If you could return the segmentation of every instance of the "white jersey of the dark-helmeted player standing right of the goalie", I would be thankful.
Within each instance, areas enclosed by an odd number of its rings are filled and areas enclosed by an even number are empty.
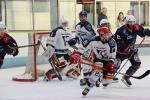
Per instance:
[[[76,37],[83,47],[86,47],[90,40],[97,35],[96,29],[89,22],[85,22],[84,25],[78,23],[75,27]]]

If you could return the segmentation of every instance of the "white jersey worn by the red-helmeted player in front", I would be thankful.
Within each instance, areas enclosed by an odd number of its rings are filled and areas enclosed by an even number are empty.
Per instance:
[[[107,43],[103,43],[99,37],[96,37],[93,41],[89,43],[86,47],[84,56],[90,56],[93,52],[96,58],[105,61],[114,61],[116,58],[117,45],[113,38],[111,38]]]

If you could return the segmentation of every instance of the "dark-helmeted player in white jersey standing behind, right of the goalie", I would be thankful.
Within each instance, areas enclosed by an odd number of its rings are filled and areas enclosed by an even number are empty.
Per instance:
[[[81,11],[79,13],[80,22],[76,25],[76,37],[71,39],[68,43],[70,46],[75,45],[76,43],[81,44],[81,48],[85,48],[92,38],[97,34],[96,29],[87,21],[87,12]],[[80,51],[80,50],[79,50]],[[81,50],[82,52],[84,50]],[[89,76],[88,68],[82,68],[84,78],[80,80],[80,85],[86,85],[86,78]],[[90,69],[89,69],[90,70]]]

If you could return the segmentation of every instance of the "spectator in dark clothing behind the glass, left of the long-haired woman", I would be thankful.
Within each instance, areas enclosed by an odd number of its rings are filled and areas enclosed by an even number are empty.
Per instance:
[[[100,21],[102,19],[107,19],[107,8],[102,8],[100,14],[98,15],[98,27],[100,26]]]

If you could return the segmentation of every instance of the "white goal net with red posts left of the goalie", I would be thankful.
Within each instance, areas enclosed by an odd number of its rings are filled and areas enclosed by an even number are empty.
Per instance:
[[[12,80],[32,82],[36,81],[38,77],[44,76],[45,72],[50,68],[48,60],[43,56],[46,51],[46,40],[49,34],[49,32],[28,34],[28,43],[29,45],[34,44],[34,46],[28,47],[25,72],[13,77]]]

